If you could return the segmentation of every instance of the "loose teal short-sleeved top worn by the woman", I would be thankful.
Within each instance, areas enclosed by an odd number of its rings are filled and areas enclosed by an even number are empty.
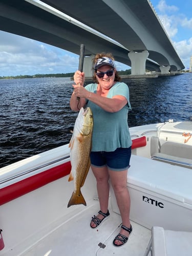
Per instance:
[[[97,83],[90,83],[86,90],[96,93]],[[124,82],[116,82],[110,88],[107,98],[115,95],[124,96],[128,103],[118,112],[110,113],[104,111],[100,106],[88,100],[89,106],[93,112],[93,138],[92,151],[115,151],[118,147],[130,147],[132,140],[127,123],[128,111],[131,110],[129,102],[129,88]]]

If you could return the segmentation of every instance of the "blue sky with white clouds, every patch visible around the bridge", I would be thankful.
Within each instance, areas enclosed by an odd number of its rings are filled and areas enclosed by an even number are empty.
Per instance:
[[[162,24],[189,69],[192,55],[192,1],[151,0]],[[0,31],[0,76],[69,73],[78,55],[41,42]],[[118,70],[130,67],[116,63]]]

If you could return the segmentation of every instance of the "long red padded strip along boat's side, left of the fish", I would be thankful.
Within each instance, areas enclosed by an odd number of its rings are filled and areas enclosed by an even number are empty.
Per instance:
[[[52,181],[65,177],[70,174],[70,171],[71,162],[69,161],[4,187],[0,192],[0,205],[30,193]]]

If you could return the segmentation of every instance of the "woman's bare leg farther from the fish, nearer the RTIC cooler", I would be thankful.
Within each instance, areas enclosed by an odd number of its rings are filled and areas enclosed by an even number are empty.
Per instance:
[[[121,214],[122,225],[127,228],[131,227],[130,223],[130,194],[127,190],[127,169],[122,171],[109,170],[111,183],[114,189],[117,205]],[[120,231],[125,237],[129,237],[129,232],[122,229]],[[121,245],[122,242],[115,240],[115,244]]]

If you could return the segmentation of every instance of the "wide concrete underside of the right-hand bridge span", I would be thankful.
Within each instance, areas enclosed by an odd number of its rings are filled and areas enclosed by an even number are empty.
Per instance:
[[[44,2],[113,38],[129,51],[147,50],[148,58],[160,66],[170,66],[173,71],[184,69],[150,1],[98,0],[94,7],[89,0]]]

